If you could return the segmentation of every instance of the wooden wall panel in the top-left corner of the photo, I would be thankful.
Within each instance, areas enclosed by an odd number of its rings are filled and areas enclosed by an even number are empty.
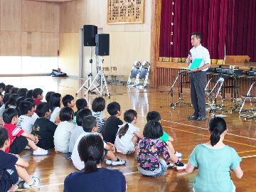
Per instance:
[[[1,0],[0,13],[1,31],[21,31],[21,0]]]

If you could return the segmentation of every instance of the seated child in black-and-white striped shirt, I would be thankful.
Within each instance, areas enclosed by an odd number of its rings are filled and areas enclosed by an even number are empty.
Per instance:
[[[96,97],[92,101],[92,115],[97,120],[97,132],[99,133],[102,132],[103,124],[105,123],[105,121],[107,121],[107,117],[104,113],[102,113],[103,110],[105,110],[105,99],[103,97]]]

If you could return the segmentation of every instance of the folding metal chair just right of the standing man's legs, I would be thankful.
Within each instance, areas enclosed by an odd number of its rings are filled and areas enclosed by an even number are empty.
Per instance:
[[[208,110],[214,116],[215,116],[216,110],[222,110],[222,106],[223,106],[222,94],[220,94],[221,106],[216,105],[215,102],[216,102],[216,99],[218,97],[218,94],[221,92],[221,88],[223,87],[223,82],[224,82],[223,77],[210,78],[210,80],[208,80],[206,88],[205,88],[205,92],[208,95],[206,100],[208,100],[208,105],[210,105],[210,107],[206,110]],[[210,85],[213,85],[212,89],[210,89]],[[213,93],[214,93],[214,99],[213,99]]]

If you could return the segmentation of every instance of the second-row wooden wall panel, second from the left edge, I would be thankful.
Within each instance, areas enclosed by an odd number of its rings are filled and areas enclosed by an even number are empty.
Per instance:
[[[41,56],[42,33],[22,32],[21,34],[21,55]]]

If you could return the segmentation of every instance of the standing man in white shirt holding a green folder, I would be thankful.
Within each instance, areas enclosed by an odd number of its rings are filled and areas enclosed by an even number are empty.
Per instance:
[[[206,70],[210,68],[210,54],[209,51],[201,46],[202,36],[200,33],[195,32],[191,35],[191,48],[188,55],[188,64],[195,59],[203,59],[198,68],[191,70],[191,100],[194,108],[194,113],[187,117],[188,119],[196,119],[203,121],[206,119]]]

